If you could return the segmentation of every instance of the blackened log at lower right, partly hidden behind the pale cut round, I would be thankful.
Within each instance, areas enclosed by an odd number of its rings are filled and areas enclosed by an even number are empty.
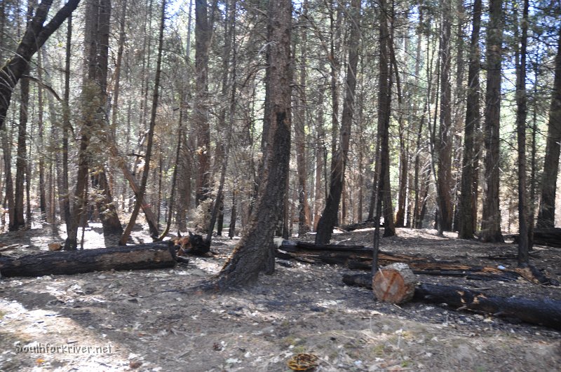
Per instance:
[[[370,274],[343,275],[343,282],[372,289]],[[445,304],[452,310],[473,310],[561,329],[561,301],[557,300],[491,296],[462,287],[420,284],[414,289],[412,301]]]

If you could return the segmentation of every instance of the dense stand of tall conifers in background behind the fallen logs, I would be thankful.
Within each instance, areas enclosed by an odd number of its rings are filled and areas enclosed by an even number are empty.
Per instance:
[[[247,230],[271,125],[267,2],[75,0],[54,16],[53,3],[1,5],[8,230],[66,223],[75,249],[81,220],[123,233],[139,207],[154,237],[162,224]],[[327,243],[334,226],[381,216],[384,236],[520,230],[531,245],[534,226],[555,227],[556,1],[306,0],[291,12],[276,233]]]

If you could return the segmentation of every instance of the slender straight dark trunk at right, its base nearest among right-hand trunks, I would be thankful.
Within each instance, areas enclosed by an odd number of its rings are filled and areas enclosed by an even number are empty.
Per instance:
[[[516,40],[516,135],[518,137],[518,266],[526,267],[529,263],[528,250],[528,200],[526,182],[526,50],[528,41],[528,8],[529,1],[524,1],[522,10],[522,35]],[[518,22],[517,22],[518,23]],[[518,28],[518,25],[517,25]],[[518,34],[518,29],[517,29]],[[520,50],[518,46],[520,45]]]

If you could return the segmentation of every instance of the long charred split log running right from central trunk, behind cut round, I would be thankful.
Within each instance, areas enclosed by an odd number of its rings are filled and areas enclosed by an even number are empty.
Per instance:
[[[283,240],[277,257],[296,259],[307,263],[327,263],[339,265],[351,270],[370,270],[372,268],[372,248],[362,245],[326,244],[315,245],[309,242],[292,242]],[[499,269],[492,266],[470,266],[452,261],[436,261],[431,258],[393,254],[380,251],[379,266],[403,262],[410,266],[415,274],[459,276],[472,280],[513,281],[525,277],[533,282],[548,282],[546,278],[532,276],[532,272],[522,269]]]

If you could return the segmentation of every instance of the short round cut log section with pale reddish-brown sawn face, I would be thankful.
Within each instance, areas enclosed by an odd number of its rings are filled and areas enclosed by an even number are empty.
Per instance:
[[[380,268],[372,279],[372,290],[379,301],[404,303],[413,298],[416,279],[407,263]]]

